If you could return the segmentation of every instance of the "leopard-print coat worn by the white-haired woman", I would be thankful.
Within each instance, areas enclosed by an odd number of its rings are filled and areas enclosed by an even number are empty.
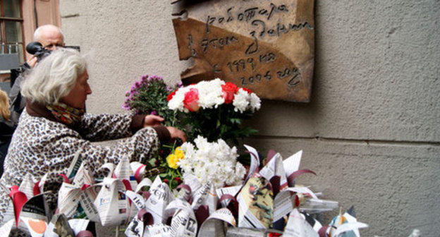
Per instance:
[[[131,119],[130,114],[85,114],[80,129],[72,129],[44,117],[30,116],[25,110],[13,134],[0,184],[6,188],[20,186],[26,174],[31,174],[36,182],[48,173],[44,189],[57,192],[62,183],[59,174],[67,173],[77,152],[94,176],[104,174],[100,169],[102,164],[117,164],[123,156],[132,162],[145,163],[157,152],[160,141],[153,128],[142,128],[133,135]],[[118,138],[126,139],[114,147],[91,142]],[[0,226],[11,219],[4,218],[6,210],[11,208],[9,200],[7,189],[0,188]]]

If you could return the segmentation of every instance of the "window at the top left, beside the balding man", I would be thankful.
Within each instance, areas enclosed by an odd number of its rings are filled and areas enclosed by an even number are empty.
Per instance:
[[[0,0],[1,54],[18,54],[24,63],[23,18],[20,0]]]

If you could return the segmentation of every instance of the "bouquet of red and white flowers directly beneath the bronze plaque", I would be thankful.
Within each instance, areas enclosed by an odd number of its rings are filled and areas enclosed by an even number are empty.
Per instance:
[[[250,127],[240,128],[242,120],[261,107],[259,97],[245,87],[216,78],[181,87],[167,99],[169,109],[185,113],[182,122],[190,126],[189,138],[202,135],[209,142],[221,138],[237,145],[238,138],[257,132]]]

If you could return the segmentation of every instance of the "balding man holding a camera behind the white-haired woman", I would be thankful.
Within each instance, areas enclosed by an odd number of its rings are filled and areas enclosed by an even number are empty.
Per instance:
[[[29,51],[31,54],[30,58],[21,67],[21,73],[16,78],[15,83],[11,87],[9,92],[9,102],[11,111],[11,121],[13,125],[16,126],[18,123],[18,118],[21,112],[25,108],[25,99],[21,97],[20,89],[24,80],[26,80],[26,71],[30,68],[34,68],[37,65],[39,59],[47,55],[47,51],[56,50],[59,47],[63,47],[64,36],[61,29],[55,25],[42,25],[34,32],[34,41],[41,44],[41,48],[35,49],[35,51]],[[32,44],[32,43],[31,43]]]

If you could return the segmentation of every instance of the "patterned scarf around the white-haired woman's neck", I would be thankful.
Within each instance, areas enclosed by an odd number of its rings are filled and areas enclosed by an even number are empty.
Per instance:
[[[84,115],[84,109],[75,109],[63,103],[48,104],[46,108],[51,111],[56,120],[67,125],[78,123],[81,121],[82,115]]]

